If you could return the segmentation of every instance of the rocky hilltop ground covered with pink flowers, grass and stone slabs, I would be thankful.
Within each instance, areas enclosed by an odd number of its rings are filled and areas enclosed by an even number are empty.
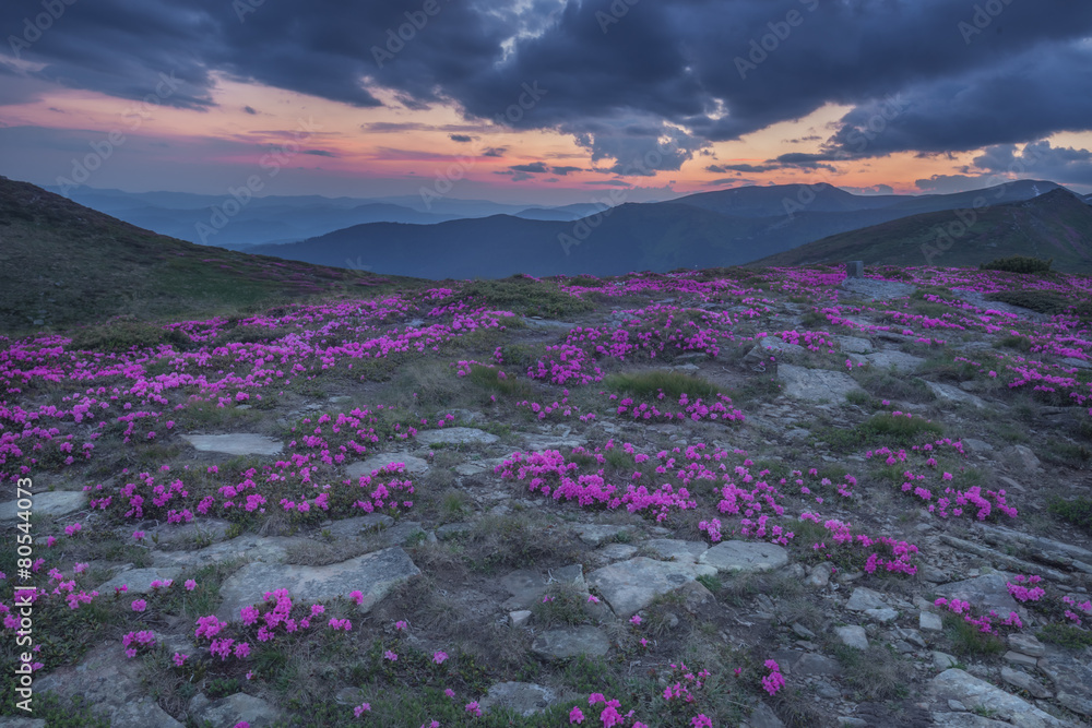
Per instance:
[[[0,726],[1092,725],[1087,283],[869,275],[9,342]]]

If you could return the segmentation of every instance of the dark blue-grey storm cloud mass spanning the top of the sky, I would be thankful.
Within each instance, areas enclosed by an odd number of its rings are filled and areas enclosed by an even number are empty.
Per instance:
[[[379,106],[379,89],[407,108],[454,103],[485,129],[571,134],[622,176],[678,169],[710,142],[827,104],[852,110],[820,153],[778,164],[959,152],[1092,126],[1089,2],[425,7],[281,0],[237,13],[225,0],[96,0],[67,7],[19,51],[44,64],[24,73],[123,98],[168,74],[177,87],[163,103],[187,108],[212,104],[217,74],[357,107]],[[8,2],[0,28],[17,35],[39,11]]]

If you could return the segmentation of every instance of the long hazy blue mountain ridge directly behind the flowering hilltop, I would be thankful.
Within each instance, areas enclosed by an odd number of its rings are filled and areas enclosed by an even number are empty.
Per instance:
[[[735,188],[629,203],[578,220],[498,215],[436,225],[366,224],[253,252],[426,278],[515,273],[618,275],[741,265],[923,212],[1026,200],[1054,182],[1020,180],[937,195],[856,195],[829,184]]]

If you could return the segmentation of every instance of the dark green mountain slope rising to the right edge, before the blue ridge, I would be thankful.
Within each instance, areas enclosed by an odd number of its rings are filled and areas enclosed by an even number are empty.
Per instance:
[[[817,240],[755,261],[808,265],[846,260],[867,264],[974,266],[996,258],[1053,258],[1054,268],[1092,273],[1092,206],[1065,189],[1033,200],[912,215]]]

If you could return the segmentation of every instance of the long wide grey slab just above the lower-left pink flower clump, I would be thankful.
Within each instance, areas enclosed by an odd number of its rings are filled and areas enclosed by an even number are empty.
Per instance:
[[[240,609],[262,601],[265,592],[280,588],[309,601],[347,597],[349,592],[359,590],[364,594],[359,609],[367,612],[395,586],[419,575],[420,570],[400,547],[327,566],[249,563],[221,586],[223,602],[216,616],[236,620]]]

